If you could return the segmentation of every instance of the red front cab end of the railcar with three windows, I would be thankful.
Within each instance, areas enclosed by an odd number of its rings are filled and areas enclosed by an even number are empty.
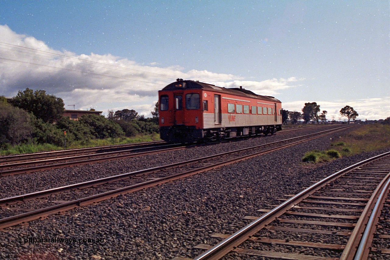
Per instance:
[[[203,138],[201,95],[201,86],[191,81],[178,80],[159,91],[161,139],[195,142]]]

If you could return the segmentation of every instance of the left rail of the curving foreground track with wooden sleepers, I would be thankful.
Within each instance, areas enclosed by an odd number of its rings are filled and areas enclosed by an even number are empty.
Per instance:
[[[353,169],[356,169],[359,166],[362,166],[363,164],[367,164],[369,162],[372,162],[373,160],[379,159],[381,157],[385,157],[387,155],[390,155],[390,152],[383,153],[381,155],[377,155],[375,157],[369,158],[367,160],[363,160],[361,162],[358,162],[356,164],[353,164],[349,167],[346,167],[336,173],[333,173],[332,175],[324,178],[323,180],[320,180],[319,182],[311,185],[307,189],[301,191],[300,193],[296,194],[295,196],[291,197],[290,199],[287,199],[284,203],[280,204],[276,208],[273,208],[268,213],[262,215],[257,220],[253,221],[252,223],[248,224],[247,226],[241,228],[236,233],[230,235],[226,239],[222,240],[212,248],[208,249],[206,252],[202,253],[201,255],[197,256],[193,260],[216,260],[221,258],[222,256],[226,255],[236,247],[238,247],[240,244],[245,242],[248,238],[252,237],[255,233],[259,232],[264,226],[274,221],[277,217],[284,214],[287,210],[289,210],[291,207],[302,201],[303,199],[307,198],[312,194],[313,192],[321,189],[329,182],[332,182],[333,180],[339,178],[340,176],[348,173],[349,171],[352,171]],[[340,258],[341,259],[341,258]]]

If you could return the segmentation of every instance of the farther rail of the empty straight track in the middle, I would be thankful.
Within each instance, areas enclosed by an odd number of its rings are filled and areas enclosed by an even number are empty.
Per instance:
[[[341,130],[343,130],[343,129],[344,128],[342,128]],[[328,130],[322,131],[322,132],[327,132],[327,131]],[[319,133],[322,133],[322,132],[319,132]],[[313,135],[313,134],[309,134],[309,135]],[[251,146],[251,147],[242,148],[242,149],[239,149],[239,150],[228,151],[228,152],[224,152],[224,153],[218,153],[216,155],[209,155],[209,156],[206,156],[206,157],[200,157],[200,158],[196,158],[196,159],[192,159],[192,160],[186,160],[184,162],[177,162],[177,163],[174,163],[174,164],[168,164],[168,165],[157,166],[157,167],[152,167],[152,168],[148,168],[148,169],[142,169],[142,170],[133,171],[133,172],[130,172],[130,173],[123,173],[123,174],[120,174],[120,175],[108,176],[108,177],[105,177],[105,178],[99,178],[99,179],[96,179],[96,180],[90,180],[90,181],[81,182],[81,183],[74,183],[74,184],[70,184],[70,185],[66,185],[66,186],[62,186],[62,187],[57,187],[57,188],[53,188],[53,189],[47,189],[47,190],[44,190],[44,191],[31,192],[31,193],[28,193],[28,194],[12,196],[12,197],[9,197],[9,198],[3,198],[3,199],[0,199],[0,205],[10,205],[11,203],[14,203],[15,201],[25,201],[27,199],[32,199],[32,198],[41,198],[43,196],[48,196],[49,194],[55,194],[55,193],[58,193],[58,192],[61,192],[61,191],[66,191],[66,190],[70,190],[70,189],[82,189],[82,188],[91,187],[91,186],[94,186],[94,185],[101,185],[101,184],[105,184],[105,183],[115,182],[115,181],[118,181],[118,180],[129,178],[131,176],[152,173],[152,172],[160,170],[160,169],[170,169],[170,168],[173,168],[173,167],[176,167],[176,166],[184,166],[184,165],[190,164],[192,162],[198,162],[198,161],[201,161],[201,160],[206,160],[206,159],[210,159],[210,158],[216,158],[216,157],[220,157],[220,156],[223,156],[223,155],[228,155],[228,154],[231,154],[231,153],[238,153],[238,152],[241,152],[241,151],[246,151],[246,150],[251,150],[251,149],[255,149],[255,148],[260,148],[260,147],[263,147],[263,146],[277,144],[277,143],[280,143],[280,142],[290,141],[290,140],[294,140],[294,139],[298,139],[298,138],[302,138],[302,137],[307,137],[307,136],[308,135],[302,135],[302,136],[298,136],[298,137],[284,139],[284,140],[281,140],[281,141],[271,142],[271,143],[268,143],[268,144],[260,144],[260,145],[257,145],[257,146]],[[323,135],[321,135],[321,136],[323,136]],[[321,137],[321,136],[319,136],[319,137]],[[317,138],[317,137],[315,137],[315,138]],[[303,140],[303,141],[306,141],[306,140]],[[296,143],[297,142],[294,142],[293,144],[296,144]],[[270,149],[270,150],[272,150],[272,149]],[[270,151],[270,150],[266,150],[266,151]]]

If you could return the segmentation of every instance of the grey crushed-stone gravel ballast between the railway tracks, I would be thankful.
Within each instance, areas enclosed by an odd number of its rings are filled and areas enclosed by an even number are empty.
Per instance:
[[[266,155],[250,158],[213,171],[166,183],[144,191],[52,215],[1,231],[0,258],[4,259],[172,259],[195,257],[204,250],[197,244],[214,245],[212,233],[233,233],[248,224],[245,215],[258,215],[259,208],[279,204],[278,198],[295,194],[336,171],[389,149],[344,157],[326,164],[304,165],[306,151],[325,150],[344,133],[332,134]],[[249,139],[148,158],[111,161],[99,166],[82,166],[8,176],[1,190],[12,195],[80,182],[107,174],[118,174],[228,150],[284,139],[286,135]],[[331,139],[332,138],[332,139]],[[185,157],[185,158],[184,158]],[[153,159],[152,159],[153,158]],[[103,173],[104,172],[104,173]],[[55,173],[55,174],[54,174]],[[72,174],[73,173],[73,174]],[[54,178],[56,175],[57,178]],[[58,176],[64,175],[64,178]],[[86,176],[88,175],[88,176]],[[17,177],[17,178],[16,178]],[[33,185],[25,183],[30,179]],[[4,178],[5,179],[5,178]],[[57,180],[57,185],[53,183]],[[3,178],[2,178],[3,180]],[[20,184],[20,182],[24,182]],[[64,184],[61,184],[64,183]],[[14,185],[16,191],[8,191]],[[49,186],[49,187],[48,187]],[[10,195],[8,195],[10,196]],[[5,197],[5,196],[4,196]],[[18,238],[21,242],[18,242]],[[25,239],[76,239],[77,242],[27,242]],[[103,239],[79,242],[79,239]],[[45,255],[46,254],[46,255]],[[237,256],[239,259],[239,256]],[[255,259],[255,258],[254,258]]]

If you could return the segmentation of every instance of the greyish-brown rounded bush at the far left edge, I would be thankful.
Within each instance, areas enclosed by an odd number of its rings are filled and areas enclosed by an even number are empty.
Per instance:
[[[0,146],[5,143],[18,144],[27,141],[32,130],[28,112],[12,107],[4,97],[0,97]]]

